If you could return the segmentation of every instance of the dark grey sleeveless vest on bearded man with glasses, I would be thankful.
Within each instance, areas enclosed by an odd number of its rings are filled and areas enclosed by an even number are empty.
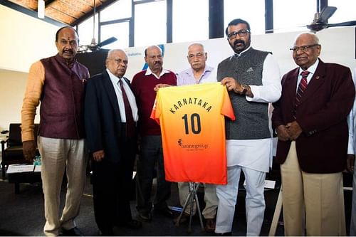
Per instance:
[[[268,52],[250,48],[226,58],[218,65],[217,80],[235,78],[241,84],[262,85],[263,62]],[[268,103],[248,102],[245,96],[230,92],[236,120],[226,118],[226,139],[264,139],[271,137],[268,128]]]

